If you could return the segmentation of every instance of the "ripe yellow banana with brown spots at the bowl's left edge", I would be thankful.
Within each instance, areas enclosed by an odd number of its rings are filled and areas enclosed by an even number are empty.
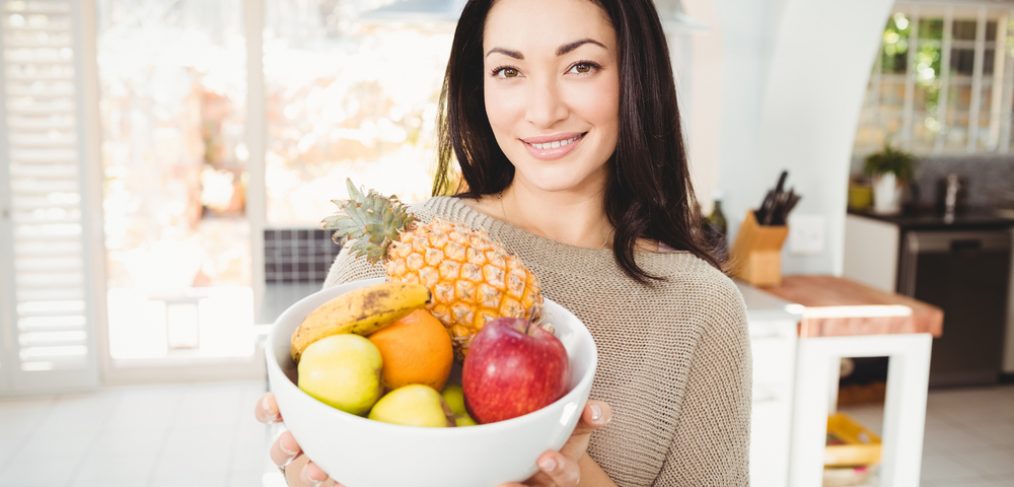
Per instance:
[[[422,284],[382,282],[334,297],[313,309],[292,333],[292,359],[311,343],[331,335],[354,333],[367,336],[430,302],[430,290]]]

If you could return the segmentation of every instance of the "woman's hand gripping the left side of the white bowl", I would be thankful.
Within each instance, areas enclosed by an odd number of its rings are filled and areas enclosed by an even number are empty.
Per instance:
[[[265,393],[255,410],[257,420],[264,424],[281,423],[282,413],[278,411],[275,395]],[[271,461],[281,469],[285,481],[290,486],[337,486],[342,484],[331,480],[328,474],[303,455],[292,433],[285,431],[271,445]]]

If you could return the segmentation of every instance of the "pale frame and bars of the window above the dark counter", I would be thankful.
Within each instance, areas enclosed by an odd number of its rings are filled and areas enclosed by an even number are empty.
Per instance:
[[[967,155],[967,154],[1009,154],[1011,153],[1011,130],[1014,119],[1014,38],[1009,39],[1011,22],[1014,21],[1014,4],[1007,2],[899,2],[891,10],[891,17],[904,15],[909,27],[906,51],[906,67],[903,73],[883,72],[885,56],[884,44],[881,43],[870,73],[866,98],[861,108],[858,132],[875,132],[882,141],[890,141],[901,148],[919,155]],[[941,20],[942,34],[939,41],[921,39],[920,25],[925,20]],[[953,39],[955,22],[975,22],[975,39]],[[987,39],[989,22],[996,22],[994,38]],[[890,19],[885,22],[884,31],[888,28]],[[918,64],[917,55],[921,46],[939,43],[940,72],[935,73],[933,83],[937,86],[936,106],[925,114],[917,110]],[[951,54],[954,49],[973,48],[971,77],[967,81],[959,80],[951,66]],[[985,73],[986,55],[993,49],[993,72]],[[883,85],[890,77],[903,79],[903,97],[900,103],[885,103]],[[956,106],[956,100],[949,99],[954,86],[970,86],[970,95],[966,105]],[[990,89],[989,105],[984,106],[986,98],[984,90]],[[900,112],[900,127],[891,130],[888,124],[896,122]],[[890,115],[889,117],[885,115]],[[949,120],[953,114],[967,117],[966,122],[952,124]],[[962,118],[963,118],[962,117]],[[935,120],[937,129],[927,129],[933,132],[932,143],[920,140],[917,125]],[[987,125],[983,121],[988,120]],[[964,131],[963,140],[958,146],[948,143],[950,130]],[[859,155],[879,150],[880,143],[873,142],[877,136],[866,136],[861,140],[857,135],[854,152]],[[984,142],[985,141],[985,142]]]

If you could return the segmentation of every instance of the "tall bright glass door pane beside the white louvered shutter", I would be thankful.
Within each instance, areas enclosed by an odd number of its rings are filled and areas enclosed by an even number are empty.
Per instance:
[[[114,368],[254,353],[243,3],[98,3]]]

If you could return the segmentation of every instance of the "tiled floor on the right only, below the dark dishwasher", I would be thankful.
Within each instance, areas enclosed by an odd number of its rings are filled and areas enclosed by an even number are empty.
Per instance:
[[[1014,386],[931,391],[923,487],[1014,487]],[[847,413],[881,432],[880,407]]]

